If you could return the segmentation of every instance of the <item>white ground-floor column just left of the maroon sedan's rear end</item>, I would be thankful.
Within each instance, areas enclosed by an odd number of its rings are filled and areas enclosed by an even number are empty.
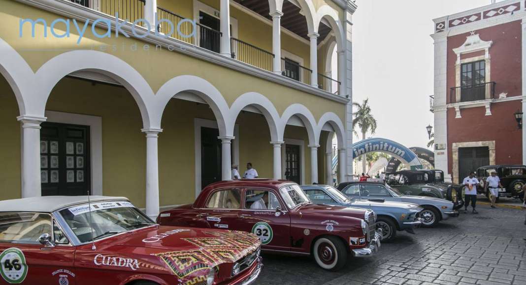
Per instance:
[[[162,129],[142,129],[146,133],[146,215],[155,219],[159,215],[159,156],[158,134]]]

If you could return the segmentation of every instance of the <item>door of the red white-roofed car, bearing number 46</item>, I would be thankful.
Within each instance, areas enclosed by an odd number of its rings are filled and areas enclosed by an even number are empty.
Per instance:
[[[75,247],[46,213],[0,213],[0,283],[75,284]],[[42,245],[43,234],[53,244]],[[54,238],[55,236],[55,238]]]

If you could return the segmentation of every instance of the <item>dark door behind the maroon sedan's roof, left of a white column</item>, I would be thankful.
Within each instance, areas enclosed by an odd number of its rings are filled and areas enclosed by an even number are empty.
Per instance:
[[[201,128],[201,188],[221,181],[221,140],[219,130]]]

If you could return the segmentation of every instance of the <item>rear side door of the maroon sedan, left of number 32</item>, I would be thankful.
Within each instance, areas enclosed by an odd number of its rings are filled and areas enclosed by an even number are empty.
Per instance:
[[[240,230],[241,189],[220,188],[210,193],[199,217],[209,228]]]

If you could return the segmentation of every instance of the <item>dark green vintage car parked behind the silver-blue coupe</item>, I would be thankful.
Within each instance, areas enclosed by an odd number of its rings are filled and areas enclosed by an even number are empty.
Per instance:
[[[458,187],[444,183],[442,171],[403,170],[389,174],[387,183],[405,195],[450,200],[454,209],[464,205],[462,198],[457,195]]]

